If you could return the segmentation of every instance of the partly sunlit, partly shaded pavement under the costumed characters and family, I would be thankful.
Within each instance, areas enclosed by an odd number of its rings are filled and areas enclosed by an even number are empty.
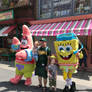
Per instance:
[[[0,92],[42,92],[42,89],[37,88],[37,76],[32,77],[32,85],[27,87],[24,85],[25,78],[18,85],[13,85],[9,82],[10,78],[14,77],[15,68],[14,62],[0,61]],[[87,71],[78,71],[73,75],[73,81],[76,82],[76,92],[92,92],[92,73]],[[57,76],[57,92],[62,92],[65,86],[65,81],[62,77],[62,72],[59,70]],[[47,92],[49,85],[47,83]]]

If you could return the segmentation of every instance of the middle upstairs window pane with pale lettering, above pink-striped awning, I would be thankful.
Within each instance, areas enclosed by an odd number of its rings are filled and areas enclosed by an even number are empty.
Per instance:
[[[72,13],[72,0],[53,0],[53,15],[60,17]]]

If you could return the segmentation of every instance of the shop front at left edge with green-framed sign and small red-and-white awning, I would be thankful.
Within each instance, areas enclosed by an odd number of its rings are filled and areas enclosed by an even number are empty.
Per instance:
[[[0,12],[0,60],[11,61],[11,57],[14,56],[10,44],[15,34],[13,10]]]

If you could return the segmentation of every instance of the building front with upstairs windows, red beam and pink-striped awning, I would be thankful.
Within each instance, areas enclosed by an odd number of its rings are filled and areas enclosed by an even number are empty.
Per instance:
[[[55,53],[56,35],[74,32],[87,49],[88,68],[92,70],[92,0],[37,0],[36,21],[30,21],[35,39],[46,37]]]

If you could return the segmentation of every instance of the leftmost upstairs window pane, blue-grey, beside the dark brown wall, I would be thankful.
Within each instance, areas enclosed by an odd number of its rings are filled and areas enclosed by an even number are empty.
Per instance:
[[[51,0],[40,0],[40,17],[50,18],[51,17]]]

